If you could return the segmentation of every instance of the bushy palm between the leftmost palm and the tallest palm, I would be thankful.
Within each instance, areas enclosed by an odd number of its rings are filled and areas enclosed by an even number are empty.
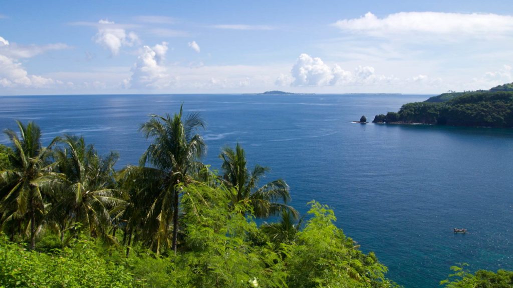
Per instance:
[[[114,164],[119,157],[111,152],[98,156],[93,145],[86,145],[84,137],[65,135],[65,147],[55,152],[56,169],[66,175],[60,185],[57,203],[48,213],[48,219],[60,222],[63,228],[74,228],[80,223],[92,237],[112,240],[107,229],[111,224],[110,210],[123,203],[114,189]],[[63,215],[64,214],[64,215]],[[65,228],[66,225],[70,227]]]

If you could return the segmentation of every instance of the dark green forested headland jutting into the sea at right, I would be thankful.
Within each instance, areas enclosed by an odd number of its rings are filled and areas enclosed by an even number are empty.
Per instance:
[[[490,90],[440,94],[405,104],[398,112],[376,115],[373,123],[513,127],[513,83]]]

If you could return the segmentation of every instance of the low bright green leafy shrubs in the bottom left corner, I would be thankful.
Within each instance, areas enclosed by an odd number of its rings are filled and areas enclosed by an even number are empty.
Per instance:
[[[75,240],[53,254],[28,251],[0,235],[0,287],[134,287],[124,265],[107,262],[93,242]]]

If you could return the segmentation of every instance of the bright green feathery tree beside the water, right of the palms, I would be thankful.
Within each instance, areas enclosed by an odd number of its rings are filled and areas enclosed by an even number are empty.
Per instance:
[[[298,240],[284,245],[290,287],[390,287],[387,268],[373,253],[365,255],[333,222],[332,210],[310,202],[310,218]],[[305,269],[307,268],[307,269]]]

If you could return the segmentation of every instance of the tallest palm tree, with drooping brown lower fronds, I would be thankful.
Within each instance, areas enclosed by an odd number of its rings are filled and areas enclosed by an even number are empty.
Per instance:
[[[133,184],[141,188],[137,202],[149,207],[146,223],[156,236],[157,253],[161,245],[167,243],[171,227],[171,248],[176,253],[181,193],[177,184],[187,184],[191,175],[203,167],[198,159],[206,151],[203,138],[196,133],[205,128],[200,114],[189,114],[184,120],[182,115],[183,104],[180,113],[173,117],[167,113],[165,116],[151,115],[140,128],[146,139],[152,139],[141,156],[141,167],[128,167],[124,172],[135,176]],[[152,167],[144,167],[146,163]]]

